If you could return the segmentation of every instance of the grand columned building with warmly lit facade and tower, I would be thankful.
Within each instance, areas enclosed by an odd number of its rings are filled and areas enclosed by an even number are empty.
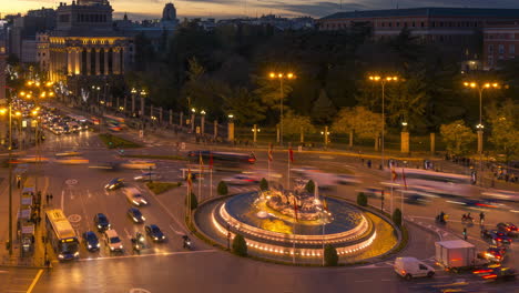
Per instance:
[[[94,82],[124,73],[130,39],[118,36],[108,0],[60,3],[57,29],[49,36],[49,72],[54,82]]]

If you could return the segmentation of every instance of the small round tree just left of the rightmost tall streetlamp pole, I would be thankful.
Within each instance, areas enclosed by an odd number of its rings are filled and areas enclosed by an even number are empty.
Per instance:
[[[454,155],[465,154],[468,144],[476,139],[474,132],[465,125],[462,120],[456,120],[440,127],[440,134],[447,144],[447,151]]]

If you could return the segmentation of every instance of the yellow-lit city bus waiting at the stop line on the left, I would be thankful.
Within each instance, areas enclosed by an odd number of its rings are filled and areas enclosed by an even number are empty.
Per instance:
[[[75,231],[62,210],[45,212],[47,238],[60,261],[79,257],[79,241]]]

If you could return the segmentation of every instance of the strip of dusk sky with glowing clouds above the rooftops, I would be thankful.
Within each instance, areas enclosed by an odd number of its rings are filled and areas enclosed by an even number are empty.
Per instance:
[[[0,0],[0,13],[27,13],[28,10],[57,8],[72,0]],[[111,0],[114,18],[128,13],[130,19],[156,19],[165,3],[173,2],[179,19],[234,18],[276,14],[322,18],[339,11],[415,7],[519,8],[519,0]]]

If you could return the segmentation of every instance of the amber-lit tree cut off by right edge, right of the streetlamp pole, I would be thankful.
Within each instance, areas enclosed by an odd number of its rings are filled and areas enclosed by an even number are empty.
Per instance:
[[[519,105],[511,100],[505,101],[499,108],[489,110],[492,134],[490,141],[496,151],[505,154],[508,164],[512,155],[519,151]]]

